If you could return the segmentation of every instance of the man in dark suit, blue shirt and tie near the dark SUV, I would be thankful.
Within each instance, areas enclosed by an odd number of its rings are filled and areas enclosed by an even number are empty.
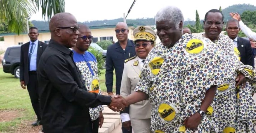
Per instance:
[[[47,47],[46,43],[43,43],[37,39],[38,35],[38,29],[36,27],[29,28],[28,36],[30,41],[21,46],[19,66],[20,85],[23,89],[26,89],[27,86],[32,107],[37,115],[37,121],[31,124],[33,126],[40,125],[41,121],[37,82],[37,65],[43,51]]]

